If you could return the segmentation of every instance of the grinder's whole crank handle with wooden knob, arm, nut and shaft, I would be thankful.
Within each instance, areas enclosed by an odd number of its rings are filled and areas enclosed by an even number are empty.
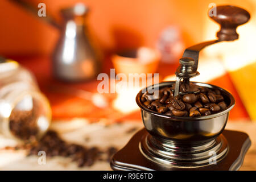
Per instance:
[[[189,82],[189,78],[199,75],[197,72],[199,52],[201,49],[222,41],[232,41],[238,39],[237,27],[249,21],[250,14],[240,7],[236,6],[217,6],[216,12],[213,10],[213,16],[210,16],[215,22],[220,24],[220,31],[217,32],[217,40],[210,40],[196,44],[185,49],[183,57],[180,59],[180,65],[176,70],[175,96],[179,94],[179,85],[181,78]],[[214,13],[216,13],[214,15]],[[189,72],[187,72],[189,70]]]

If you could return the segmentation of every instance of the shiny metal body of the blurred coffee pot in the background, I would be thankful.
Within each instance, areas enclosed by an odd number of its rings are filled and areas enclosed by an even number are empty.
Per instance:
[[[57,78],[89,80],[100,72],[100,57],[84,22],[87,11],[87,7],[81,3],[61,10],[64,26],[52,53],[53,74]]]

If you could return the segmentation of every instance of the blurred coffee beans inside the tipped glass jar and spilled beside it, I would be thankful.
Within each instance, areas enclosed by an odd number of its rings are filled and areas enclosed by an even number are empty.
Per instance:
[[[24,142],[24,144],[14,147],[14,150],[28,150],[28,155],[38,155],[39,151],[44,151],[48,157],[71,158],[79,167],[92,166],[97,160],[110,162],[112,155],[117,152],[117,148],[113,146],[102,151],[97,147],[88,148],[65,142],[55,131],[51,130],[38,139],[37,112],[36,107],[30,111],[12,111],[9,123],[11,133]],[[7,147],[6,149],[10,150],[11,148]]]

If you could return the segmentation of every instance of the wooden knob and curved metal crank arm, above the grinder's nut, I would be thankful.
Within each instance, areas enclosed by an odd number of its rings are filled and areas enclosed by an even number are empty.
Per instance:
[[[221,41],[232,41],[238,39],[236,29],[241,24],[249,21],[250,14],[240,7],[225,5],[217,6],[216,15],[213,14],[210,18],[220,24],[220,31],[217,32],[218,39],[196,44],[195,46],[185,49],[183,53],[183,57],[191,57],[195,60],[195,64],[192,66],[193,71],[195,72],[197,70],[199,52],[201,49]]]

